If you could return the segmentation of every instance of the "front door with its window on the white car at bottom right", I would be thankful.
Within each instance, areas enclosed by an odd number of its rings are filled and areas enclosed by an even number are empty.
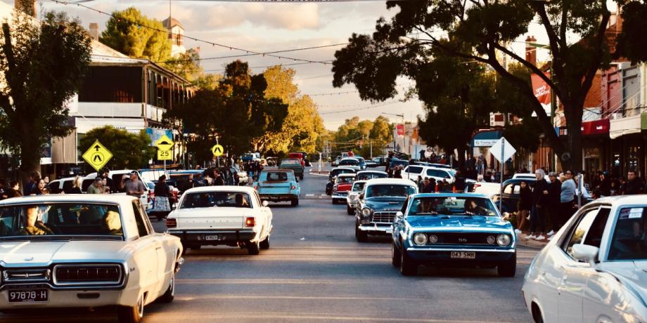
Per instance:
[[[589,263],[577,261],[572,254],[572,246],[589,244],[599,248],[609,213],[610,209],[607,207],[594,207],[583,211],[566,236],[568,239],[562,244],[562,277],[557,288],[558,322],[582,322],[584,289],[588,279],[596,275],[596,270],[591,268]]]

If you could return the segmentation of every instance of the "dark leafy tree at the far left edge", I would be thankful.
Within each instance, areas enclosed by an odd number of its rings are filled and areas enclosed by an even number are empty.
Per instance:
[[[41,147],[70,133],[65,103],[78,91],[90,63],[90,36],[65,13],[42,23],[16,14],[2,25],[0,145],[20,158],[21,178],[38,171]]]

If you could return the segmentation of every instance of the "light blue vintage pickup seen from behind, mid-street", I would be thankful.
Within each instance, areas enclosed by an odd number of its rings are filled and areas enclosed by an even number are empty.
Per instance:
[[[294,172],[289,169],[262,171],[258,181],[254,183],[254,188],[264,201],[299,205],[301,187]]]

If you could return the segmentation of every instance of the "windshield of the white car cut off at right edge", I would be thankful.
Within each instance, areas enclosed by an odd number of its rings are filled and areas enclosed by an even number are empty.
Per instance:
[[[647,206],[620,209],[611,238],[610,261],[647,259]]]

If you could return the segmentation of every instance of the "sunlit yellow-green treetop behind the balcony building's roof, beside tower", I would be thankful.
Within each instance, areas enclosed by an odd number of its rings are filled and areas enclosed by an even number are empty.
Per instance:
[[[142,15],[134,7],[115,11],[105,24],[101,42],[133,58],[169,60],[171,44],[162,22]]]

